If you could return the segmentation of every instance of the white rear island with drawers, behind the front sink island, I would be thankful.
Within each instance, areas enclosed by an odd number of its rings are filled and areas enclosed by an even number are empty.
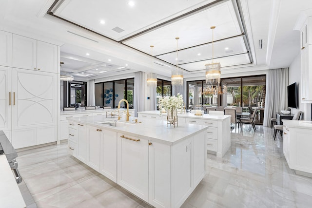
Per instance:
[[[140,118],[166,120],[167,113],[160,111],[138,112]],[[206,131],[206,148],[208,153],[222,157],[231,147],[231,115],[210,115],[203,113],[178,113],[178,125],[190,123],[208,126]]]

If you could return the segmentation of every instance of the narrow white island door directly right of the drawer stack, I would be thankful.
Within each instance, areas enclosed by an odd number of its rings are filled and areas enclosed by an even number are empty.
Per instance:
[[[76,152],[77,158],[87,164],[88,160],[88,139],[87,139],[87,126],[84,124],[78,123],[78,150]]]

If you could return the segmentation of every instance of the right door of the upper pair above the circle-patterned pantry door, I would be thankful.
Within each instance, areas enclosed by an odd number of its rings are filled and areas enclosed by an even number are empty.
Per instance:
[[[58,72],[58,47],[37,41],[37,68],[43,72]]]

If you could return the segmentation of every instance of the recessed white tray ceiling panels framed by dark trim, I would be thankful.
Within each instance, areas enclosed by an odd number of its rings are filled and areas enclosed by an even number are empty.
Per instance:
[[[48,13],[145,54],[154,45],[154,57],[186,72],[204,70],[213,52],[222,67],[253,63],[234,0],[62,0]]]

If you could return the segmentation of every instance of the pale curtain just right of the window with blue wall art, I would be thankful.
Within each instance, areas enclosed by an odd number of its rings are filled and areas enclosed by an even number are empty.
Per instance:
[[[145,111],[145,86],[146,86],[146,76],[145,72],[135,73],[135,91],[133,108],[135,109],[135,116],[137,117],[137,112]]]

